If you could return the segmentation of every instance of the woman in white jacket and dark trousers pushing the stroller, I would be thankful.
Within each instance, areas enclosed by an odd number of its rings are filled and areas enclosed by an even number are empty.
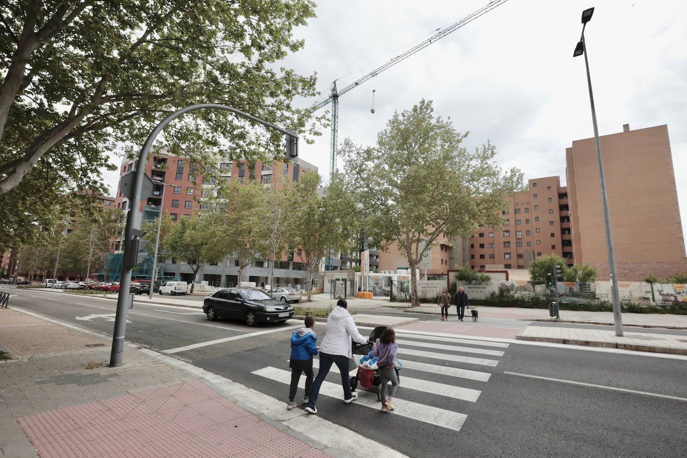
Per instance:
[[[351,357],[350,340],[353,339],[357,343],[368,343],[368,339],[358,332],[353,317],[346,310],[347,308],[346,299],[339,299],[337,306],[327,317],[327,330],[324,333],[322,344],[319,345],[319,371],[310,391],[308,405],[305,407],[305,411],[308,413],[317,413],[315,403],[319,395],[319,387],[322,387],[322,382],[324,382],[324,378],[333,364],[337,365],[341,373],[343,402],[348,403],[358,397],[358,393],[350,391],[350,381],[348,380],[348,360]]]

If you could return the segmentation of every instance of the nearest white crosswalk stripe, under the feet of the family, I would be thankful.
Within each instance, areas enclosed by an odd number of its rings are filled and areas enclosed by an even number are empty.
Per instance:
[[[291,372],[275,367],[264,367],[263,369],[253,371],[252,374],[275,380],[275,382],[282,382],[286,385],[289,385],[291,380]],[[304,378],[301,378],[300,382],[298,382],[298,387],[302,389],[305,388]],[[343,398],[341,385],[327,381],[322,383],[319,394],[320,396],[329,396],[330,398]],[[377,411],[379,411],[380,405],[375,393],[362,390],[358,390],[358,399],[355,401],[355,404],[370,407]],[[394,405],[396,406],[394,410],[396,415],[436,426],[442,426],[443,428],[452,429],[454,431],[460,431],[460,427],[463,426],[467,418],[467,415],[464,413],[451,412],[439,409],[438,407],[418,404],[417,402],[406,401],[399,398],[394,398]]]

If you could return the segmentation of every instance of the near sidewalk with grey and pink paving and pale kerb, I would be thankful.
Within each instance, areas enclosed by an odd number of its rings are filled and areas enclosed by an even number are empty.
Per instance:
[[[10,457],[326,457],[365,441],[283,400],[127,343],[0,310],[0,450]],[[248,407],[250,406],[250,407]]]

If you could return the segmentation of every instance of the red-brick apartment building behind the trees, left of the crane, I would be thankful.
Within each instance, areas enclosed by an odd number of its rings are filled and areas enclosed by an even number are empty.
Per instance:
[[[131,172],[134,161],[124,160],[120,166],[120,176]],[[249,168],[247,161],[227,161],[217,159],[214,164],[205,164],[205,167],[214,167],[225,179],[231,179],[243,183],[249,179],[258,180],[264,185],[273,185],[274,174],[282,174],[288,181],[298,181],[306,171],[317,172],[315,165],[300,158],[293,161],[263,163],[258,161],[255,168]],[[146,163],[146,174],[155,181],[164,184],[155,184],[153,196],[142,203],[144,220],[155,220],[160,214],[168,213],[172,220],[190,218],[194,213],[204,209],[203,196],[214,193],[214,179],[204,178],[203,168],[191,163],[187,158],[177,157],[172,154],[156,153]],[[163,199],[164,192],[164,199]],[[206,194],[208,193],[208,194]],[[124,210],[128,207],[128,199],[117,189],[117,208]],[[122,236],[115,242],[115,253],[122,253]],[[149,249],[153,249],[155,240],[151,240]],[[217,265],[206,265],[201,268],[196,277],[197,282],[207,281],[216,286],[233,286],[238,282],[238,266],[236,258],[228,256]],[[255,259],[253,263],[244,269],[244,281],[256,282],[258,286],[269,282],[269,263],[272,260]],[[192,281],[192,271],[183,260],[168,258],[160,266],[163,277],[179,277],[186,282]],[[293,284],[304,286],[306,272],[300,250],[296,249],[293,255],[284,257],[275,262],[275,284],[285,286]],[[287,282],[291,279],[291,282]]]

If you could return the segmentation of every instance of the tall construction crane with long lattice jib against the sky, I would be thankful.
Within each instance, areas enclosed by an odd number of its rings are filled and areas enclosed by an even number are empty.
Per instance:
[[[466,25],[468,23],[471,23],[478,17],[482,16],[482,14],[485,14],[494,8],[496,8],[499,5],[503,5],[506,3],[508,0],[494,0],[490,1],[487,5],[483,6],[479,10],[473,12],[472,14],[469,14],[469,16],[465,16],[463,19],[460,19],[460,21],[455,22],[448,27],[445,27],[442,30],[438,30],[436,34],[433,34],[431,37],[427,38],[427,40],[423,41],[422,43],[419,43],[418,45],[415,45],[414,47],[408,49],[407,51],[398,54],[398,56],[392,58],[388,62],[386,62],[384,65],[381,65],[380,67],[377,67],[376,69],[370,71],[367,75],[363,76],[359,80],[356,80],[352,82],[351,84],[348,84],[348,86],[344,87],[340,91],[337,90],[337,82],[336,80],[332,84],[332,91],[329,94],[329,97],[326,98],[325,100],[322,100],[322,102],[319,102],[317,105],[315,105],[311,113],[314,111],[319,110],[319,108],[322,108],[323,106],[326,106],[328,104],[332,104],[332,135],[331,135],[331,157],[330,157],[330,169],[329,169],[329,181],[331,183],[332,177],[334,176],[334,173],[337,168],[337,144],[338,144],[338,137],[339,137],[339,97],[354,87],[358,87],[360,84],[363,84],[363,82],[370,80],[374,78],[375,76],[379,75],[379,73],[390,69],[394,65],[398,64],[398,62],[401,62],[402,60],[405,60],[406,58],[409,58],[413,54],[415,54],[418,51],[421,51],[422,49],[425,49],[425,47],[431,45],[435,41],[440,40],[441,38],[444,38],[444,36],[447,36],[451,32],[455,32],[456,30],[460,29],[463,25]]]

